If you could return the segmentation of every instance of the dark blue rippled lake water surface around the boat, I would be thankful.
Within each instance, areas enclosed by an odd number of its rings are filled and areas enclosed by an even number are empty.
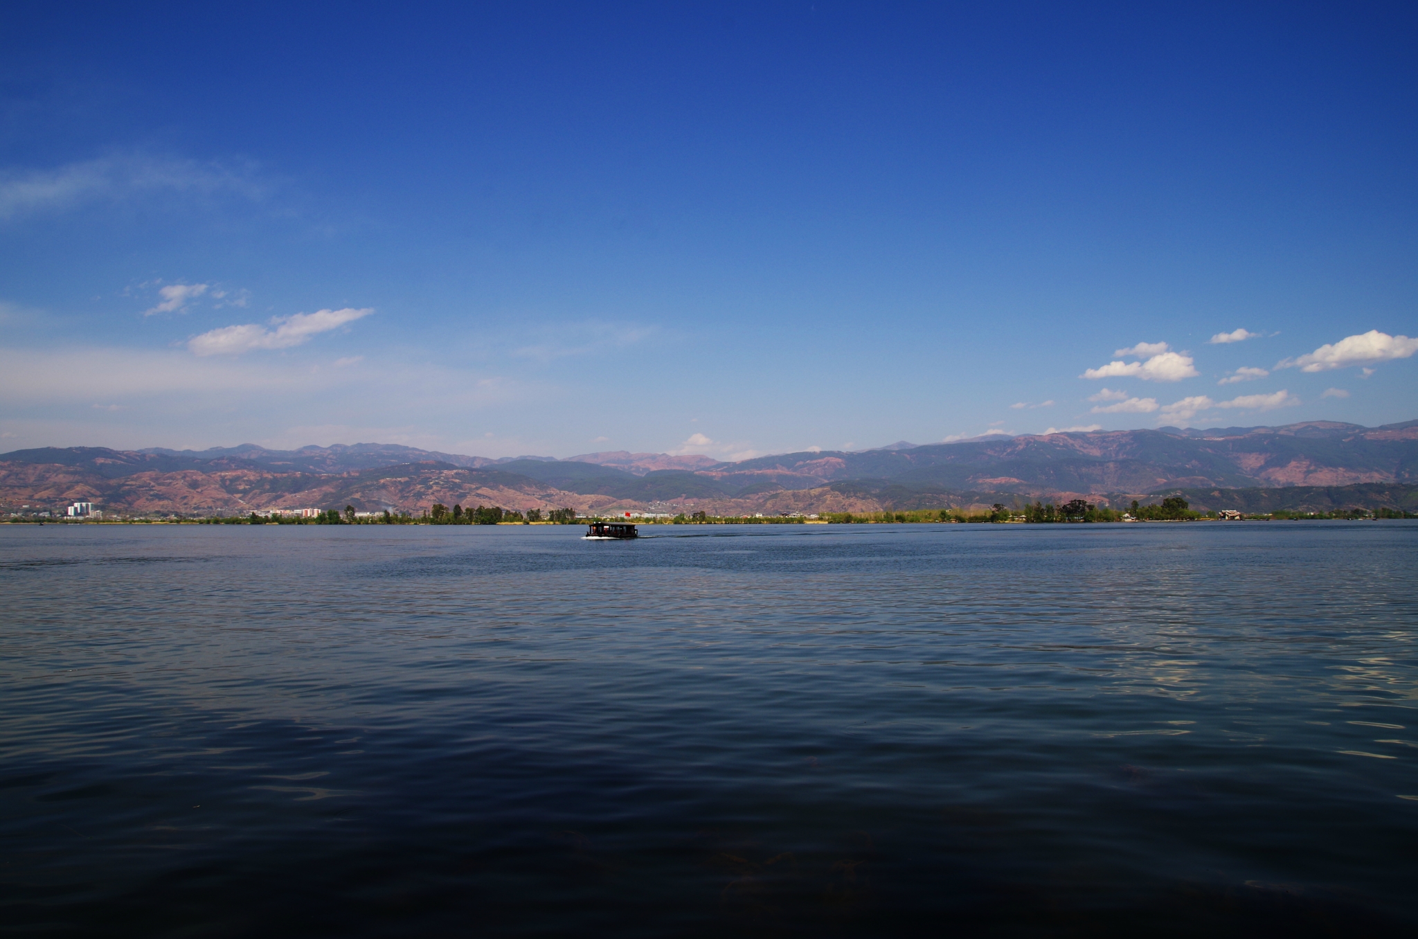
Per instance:
[[[1418,525],[0,526],[0,932],[1418,926]]]

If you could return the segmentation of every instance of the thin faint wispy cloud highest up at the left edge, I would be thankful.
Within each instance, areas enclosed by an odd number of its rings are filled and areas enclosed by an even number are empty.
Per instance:
[[[105,156],[51,169],[4,169],[0,170],[0,220],[159,191],[203,196],[228,191],[259,199],[267,186],[251,163],[142,155]]]

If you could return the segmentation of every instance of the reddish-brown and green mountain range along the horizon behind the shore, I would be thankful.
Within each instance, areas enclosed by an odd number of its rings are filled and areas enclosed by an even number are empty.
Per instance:
[[[868,512],[1001,498],[1100,504],[1177,489],[1418,484],[1418,421],[1227,427],[898,441],[720,462],[703,455],[596,452],[491,460],[397,444],[268,450],[43,447],[0,454],[0,509],[75,499],[133,513],[233,513],[353,505],[581,511]]]

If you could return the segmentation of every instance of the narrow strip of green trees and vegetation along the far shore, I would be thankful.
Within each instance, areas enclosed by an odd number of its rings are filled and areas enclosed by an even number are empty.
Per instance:
[[[465,509],[454,505],[451,509],[435,502],[430,509],[411,512],[379,511],[360,512],[353,505],[343,509],[329,508],[319,512],[298,515],[291,512],[262,511],[247,515],[125,515],[102,513],[99,518],[67,518],[57,512],[21,511],[11,512],[9,522],[20,523],[64,523],[64,525],[586,525],[590,522],[631,522],[634,525],[920,525],[920,523],[988,523],[988,525],[1069,525],[1107,522],[1201,522],[1201,521],[1370,521],[1370,519],[1412,519],[1418,513],[1405,509],[1339,509],[1333,512],[1275,511],[1259,513],[1239,512],[1197,512],[1181,496],[1167,496],[1156,505],[1139,505],[1134,499],[1126,509],[1098,506],[1083,499],[1072,499],[1061,505],[1035,501],[1032,504],[1005,506],[994,504],[988,511],[961,508],[910,509],[903,512],[822,512],[804,515],[801,512],[778,512],[774,515],[708,515],[689,513],[644,513],[608,512],[586,513],[573,508],[559,509],[505,509],[502,506],[475,505]]]

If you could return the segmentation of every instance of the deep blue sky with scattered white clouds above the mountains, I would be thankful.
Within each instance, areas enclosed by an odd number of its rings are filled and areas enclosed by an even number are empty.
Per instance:
[[[0,450],[1418,417],[1411,6],[213,6],[6,4]]]

